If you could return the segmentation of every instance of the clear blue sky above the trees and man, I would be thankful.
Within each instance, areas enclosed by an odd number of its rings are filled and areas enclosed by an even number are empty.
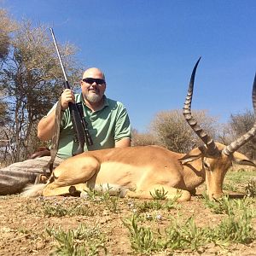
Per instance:
[[[125,104],[138,131],[155,113],[183,108],[200,56],[192,108],[207,109],[219,122],[253,109],[254,0],[0,0],[0,6],[77,45],[79,62],[106,73],[107,96]]]

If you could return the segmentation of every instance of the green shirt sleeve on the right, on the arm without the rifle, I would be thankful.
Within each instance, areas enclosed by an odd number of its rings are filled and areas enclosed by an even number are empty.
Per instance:
[[[114,141],[118,142],[122,138],[131,139],[131,123],[126,108],[120,103],[115,121]]]

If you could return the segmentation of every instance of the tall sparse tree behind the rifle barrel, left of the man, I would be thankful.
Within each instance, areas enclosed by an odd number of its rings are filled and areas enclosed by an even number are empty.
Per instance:
[[[71,44],[61,46],[61,56],[71,84],[78,81],[81,68]],[[55,46],[43,25],[32,27],[23,20],[0,71],[0,90],[12,117],[4,127],[12,161],[24,160],[38,146],[37,124],[61,95],[63,74]]]

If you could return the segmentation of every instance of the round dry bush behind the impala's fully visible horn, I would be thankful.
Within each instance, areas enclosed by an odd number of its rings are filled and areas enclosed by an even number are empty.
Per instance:
[[[207,115],[203,110],[193,111],[192,114],[198,124],[215,139],[217,137],[216,118]],[[157,113],[150,126],[159,144],[169,150],[186,153],[196,145],[202,144],[187,124],[181,110]]]

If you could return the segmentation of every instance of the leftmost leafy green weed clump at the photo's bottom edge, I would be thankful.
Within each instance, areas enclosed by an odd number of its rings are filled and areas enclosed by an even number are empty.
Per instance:
[[[49,236],[55,238],[58,245],[55,246],[56,255],[97,255],[99,253],[107,254],[107,248],[104,245],[105,238],[97,228],[87,228],[80,224],[76,230],[55,230],[54,227],[46,228]]]

